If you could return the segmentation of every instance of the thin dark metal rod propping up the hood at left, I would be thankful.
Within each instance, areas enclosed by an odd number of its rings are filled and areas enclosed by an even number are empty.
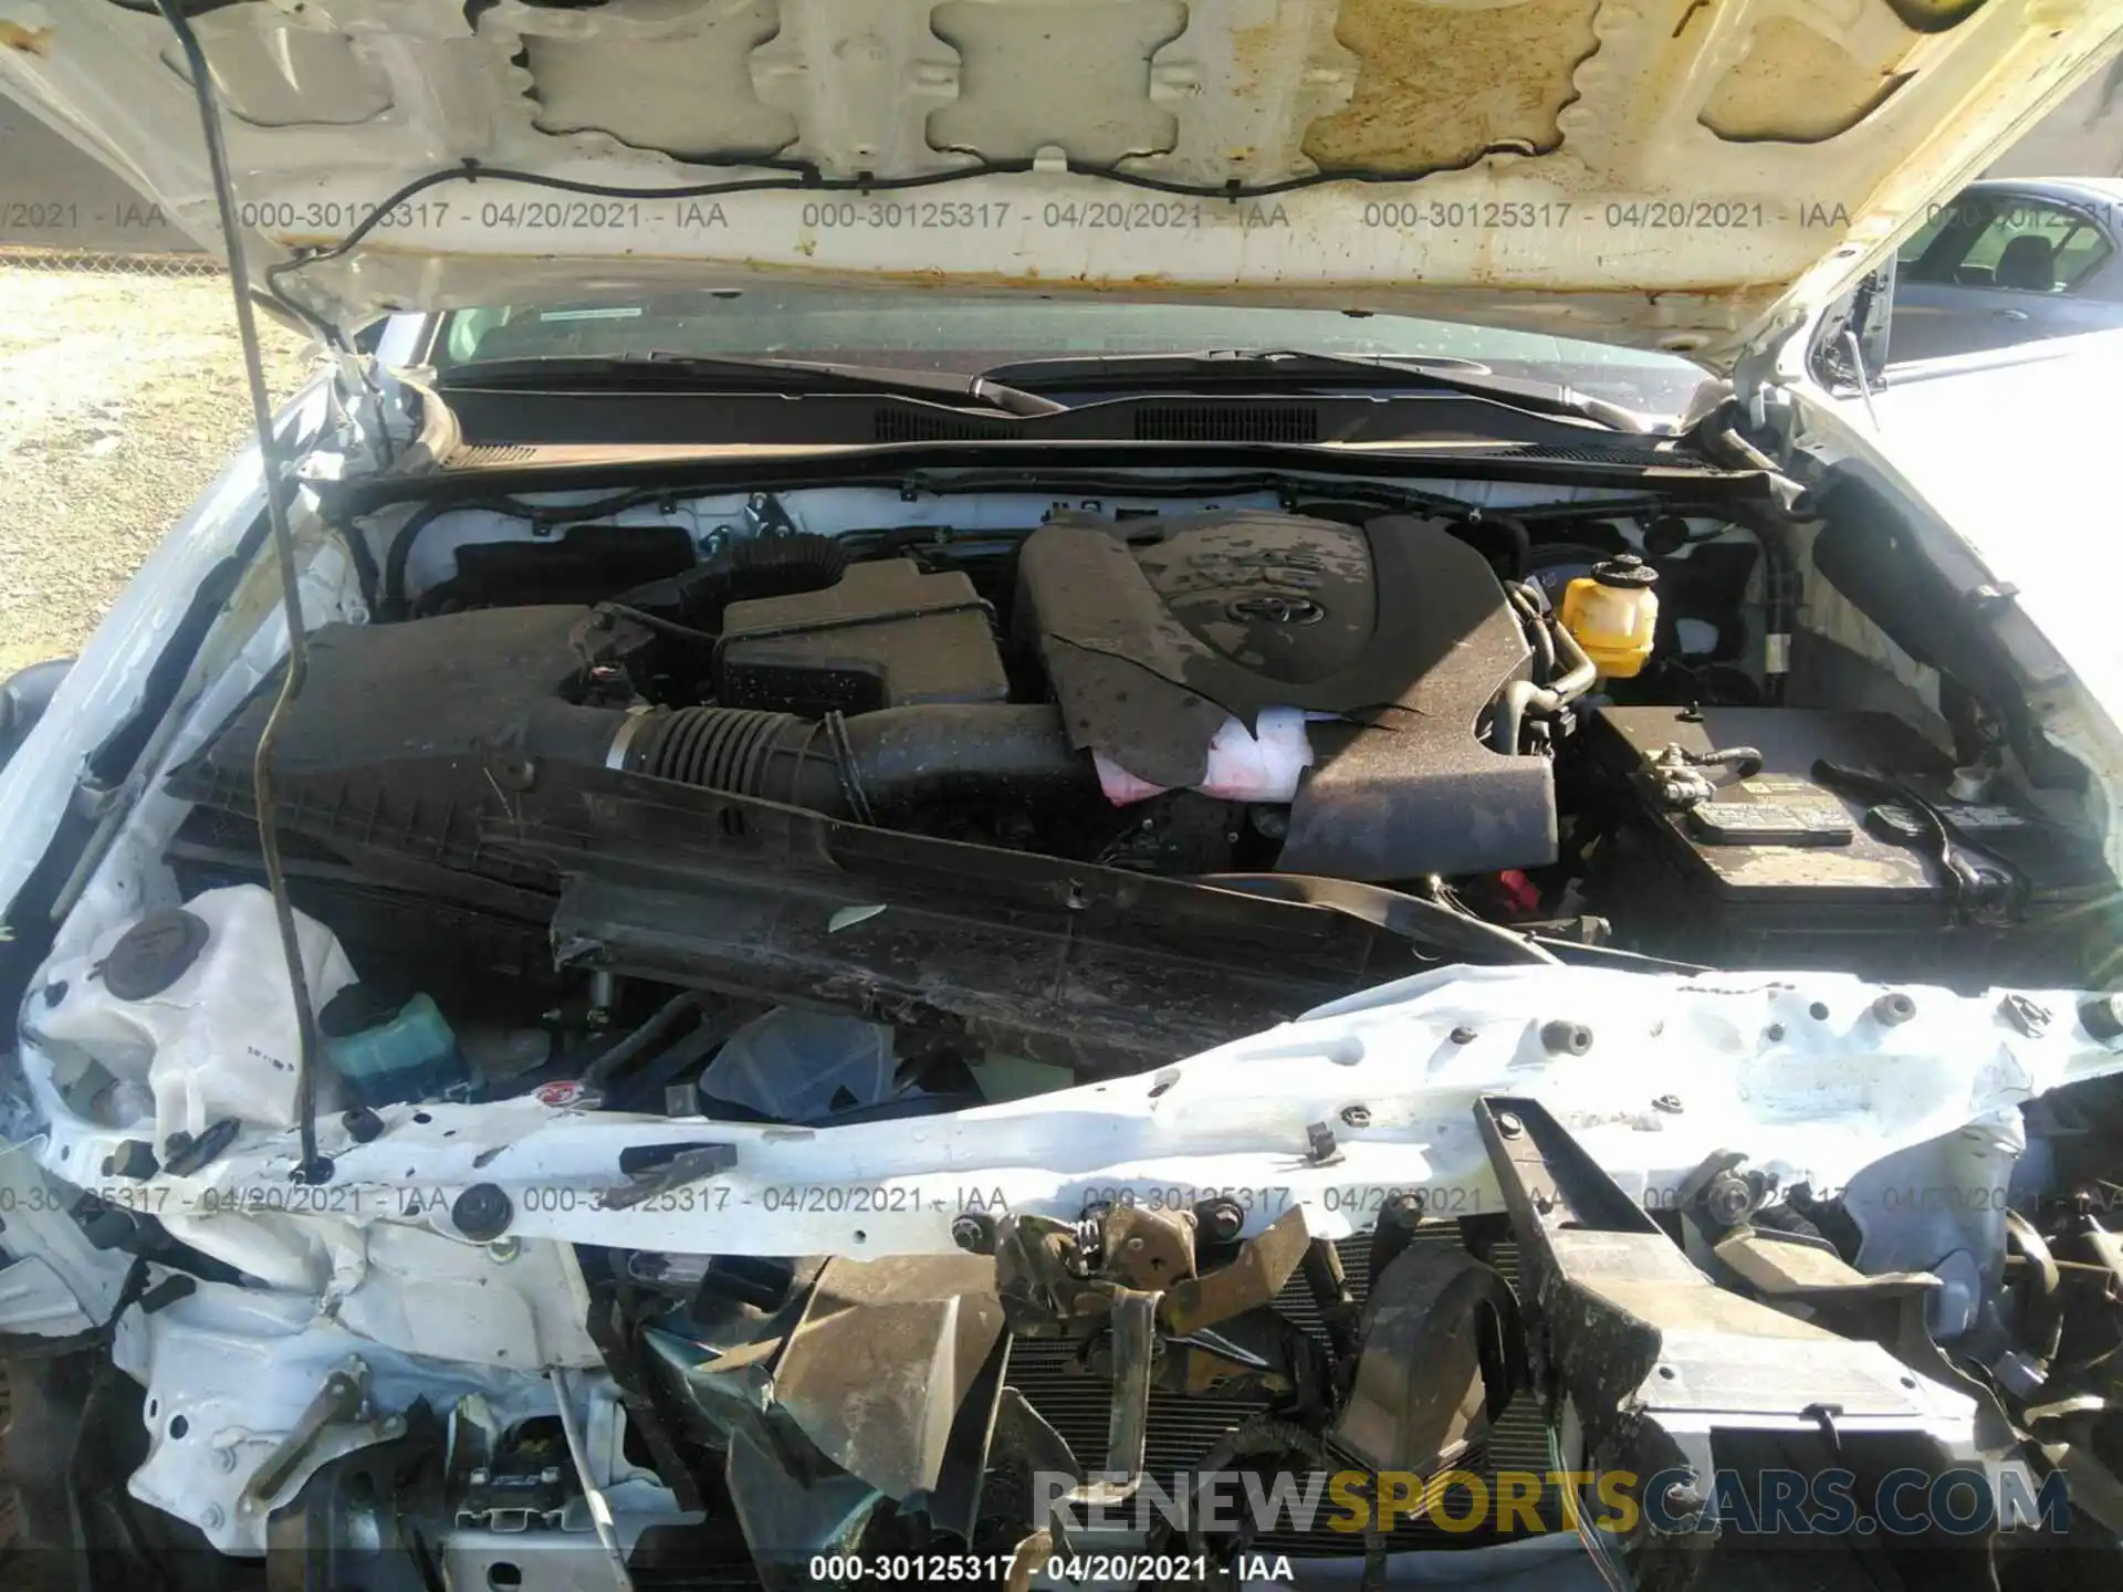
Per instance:
[[[301,582],[295,571],[295,537],[289,531],[289,482],[280,444],[272,427],[272,399],[265,393],[265,363],[259,357],[259,329],[251,306],[251,267],[244,261],[242,227],[236,219],[236,185],[229,180],[229,151],[221,138],[221,100],[214,93],[214,72],[200,49],[200,36],[185,17],[187,0],[155,0],[161,19],[176,34],[191,74],[191,93],[200,102],[200,129],[206,134],[206,166],[214,183],[214,208],[221,212],[221,246],[229,261],[229,293],[236,297],[236,333],[244,346],[244,380],[251,386],[251,422],[259,437],[259,469],[265,475],[265,518],[272,529],[272,550],[280,565],[280,609],[287,616],[287,673],[280,696],[259,734],[257,758],[251,764],[251,794],[259,817],[259,853],[265,860],[265,887],[272,892],[274,917],[280,925],[280,953],[287,957],[287,983],[295,998],[295,1032],[299,1053],[295,1063],[295,1117],[301,1129],[301,1165],[297,1182],[327,1182],[331,1161],[316,1153],[316,1013],[310,1008],[310,981],[301,966],[301,940],[295,936],[295,904],[287,896],[287,875],[280,868],[280,832],[274,824],[272,747],[289,705],[301,694],[310,673],[310,645],[301,628]]]

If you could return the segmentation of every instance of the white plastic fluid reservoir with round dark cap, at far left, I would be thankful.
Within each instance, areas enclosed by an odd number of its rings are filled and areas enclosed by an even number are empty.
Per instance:
[[[295,913],[295,940],[314,1006],[355,981],[329,928]],[[144,1106],[144,1085],[157,1144],[176,1131],[197,1138],[225,1117],[295,1125],[301,1036],[272,896],[257,885],[202,892],[102,936],[87,955],[51,962],[25,1027],[62,1066],[89,1061],[125,1085],[106,1097]],[[329,1066],[316,1083],[318,1108],[333,1110]]]

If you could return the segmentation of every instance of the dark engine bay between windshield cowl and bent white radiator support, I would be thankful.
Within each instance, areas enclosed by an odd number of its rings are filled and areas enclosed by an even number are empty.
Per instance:
[[[1442,962],[2081,972],[2098,847],[1996,747],[1749,667],[1790,624],[1773,539],[1257,497],[834,533],[422,509],[276,730],[293,898],[554,1061],[675,989],[1100,1076]],[[1613,569],[1662,592],[1628,675],[1563,618]],[[263,877],[272,703],[170,781],[187,894]]]

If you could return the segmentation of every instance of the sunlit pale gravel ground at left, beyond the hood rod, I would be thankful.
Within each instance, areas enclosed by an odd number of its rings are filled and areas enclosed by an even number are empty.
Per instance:
[[[259,338],[280,401],[308,344]],[[227,278],[0,265],[0,673],[79,650],[248,433]]]

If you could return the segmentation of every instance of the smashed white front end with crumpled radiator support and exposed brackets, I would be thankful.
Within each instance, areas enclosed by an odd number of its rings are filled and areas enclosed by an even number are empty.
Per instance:
[[[263,892],[193,911],[204,962],[267,932]],[[168,974],[168,919],[53,964],[32,1076],[130,1087],[68,1017]],[[251,983],[253,1057],[155,1013],[166,1110],[274,1072]],[[76,1520],[98,1584],[276,1590],[2106,1584],[2117,1019],[1452,968],[883,1121],[348,1106],[323,1182],[270,1106],[62,1114],[0,1161],[17,1556]]]

